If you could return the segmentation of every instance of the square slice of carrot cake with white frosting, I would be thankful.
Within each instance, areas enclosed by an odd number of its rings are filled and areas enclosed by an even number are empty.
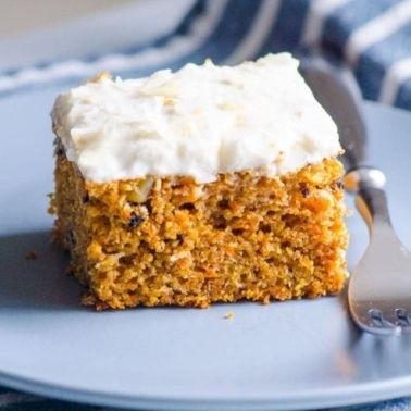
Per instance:
[[[58,97],[54,235],[102,308],[314,298],[347,277],[341,148],[288,53]]]

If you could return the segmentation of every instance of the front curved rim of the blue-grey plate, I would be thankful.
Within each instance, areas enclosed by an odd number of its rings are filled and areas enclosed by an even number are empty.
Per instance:
[[[411,374],[387,382],[368,382],[354,387],[335,387],[326,390],[313,389],[309,395],[267,396],[260,398],[233,396],[229,398],[192,397],[185,399],[162,396],[129,396],[101,393],[95,389],[78,389],[21,377],[0,371],[0,383],[13,389],[49,398],[102,407],[122,407],[136,410],[163,411],[304,411],[313,408],[361,406],[375,401],[411,396]],[[393,390],[393,386],[395,389]],[[389,389],[389,391],[388,391]],[[359,397],[360,396],[360,397]]]

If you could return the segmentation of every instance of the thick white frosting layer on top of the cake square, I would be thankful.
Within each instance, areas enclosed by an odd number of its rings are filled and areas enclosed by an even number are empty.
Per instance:
[[[340,151],[337,128],[288,53],[238,66],[187,64],[140,79],[100,76],[60,95],[68,160],[96,183],[146,175],[296,171]]]

